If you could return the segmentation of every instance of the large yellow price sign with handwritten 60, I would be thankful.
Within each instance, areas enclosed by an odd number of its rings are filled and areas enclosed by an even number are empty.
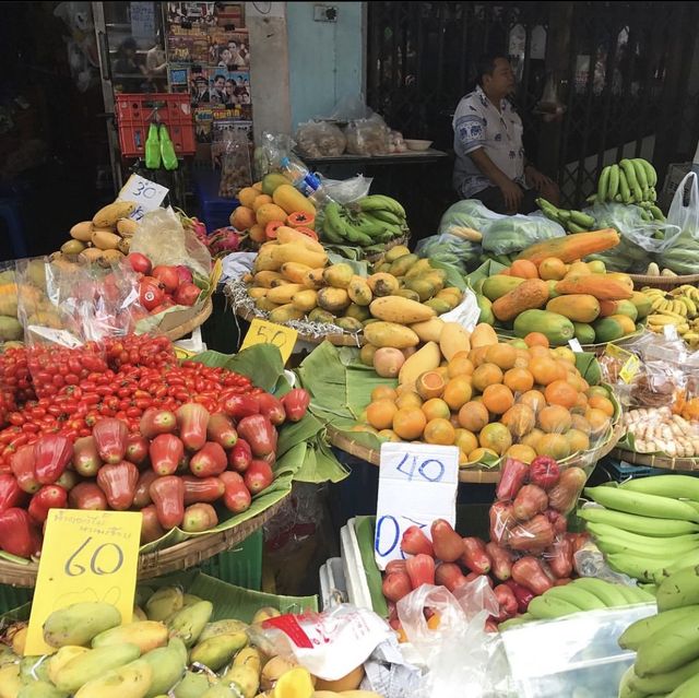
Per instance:
[[[51,509],[27,630],[26,655],[50,654],[46,618],[74,603],[105,601],[131,623],[135,594],[140,512]]]

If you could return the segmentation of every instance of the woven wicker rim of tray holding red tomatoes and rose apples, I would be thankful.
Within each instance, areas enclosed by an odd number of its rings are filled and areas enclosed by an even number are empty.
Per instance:
[[[279,511],[286,497],[253,519],[245,521],[233,529],[209,535],[199,535],[171,547],[140,555],[139,579],[153,579],[169,572],[196,567],[210,557],[230,549],[266,523]],[[36,585],[38,569],[38,563],[17,565],[0,559],[0,583],[12,584],[13,587],[34,587]]]

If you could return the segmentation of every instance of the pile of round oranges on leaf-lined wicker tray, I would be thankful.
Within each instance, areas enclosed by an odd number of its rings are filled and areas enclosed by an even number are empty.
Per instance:
[[[458,446],[462,465],[512,457],[530,463],[585,451],[608,434],[614,403],[589,386],[568,347],[544,334],[455,353],[414,383],[379,386],[355,430],[391,441]]]

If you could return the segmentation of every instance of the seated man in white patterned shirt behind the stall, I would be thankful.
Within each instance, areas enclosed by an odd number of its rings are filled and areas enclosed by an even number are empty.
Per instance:
[[[453,117],[453,186],[461,199],[478,199],[496,213],[531,213],[543,197],[558,203],[554,181],[526,162],[522,120],[508,97],[514,91],[510,61],[500,54],[477,62],[476,87]]]

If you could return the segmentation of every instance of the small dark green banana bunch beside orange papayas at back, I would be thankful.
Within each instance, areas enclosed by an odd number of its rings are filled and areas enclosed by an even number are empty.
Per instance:
[[[370,194],[351,206],[331,202],[325,206],[322,239],[333,245],[369,247],[383,245],[407,230],[403,206],[383,194]]]

